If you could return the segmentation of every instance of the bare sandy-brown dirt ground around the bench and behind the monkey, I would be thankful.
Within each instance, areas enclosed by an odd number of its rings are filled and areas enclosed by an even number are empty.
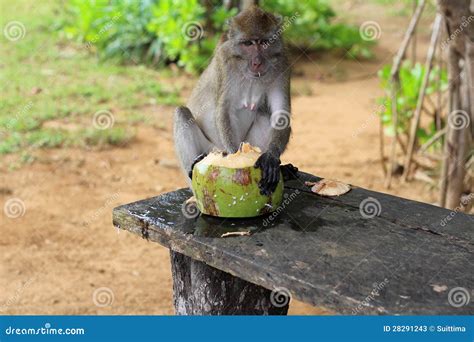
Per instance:
[[[359,22],[380,16],[377,9],[358,6]],[[390,191],[383,187],[376,71],[390,63],[408,19],[381,20],[373,61],[296,56],[293,136],[282,161],[322,177],[433,203],[436,193],[424,183],[396,179]],[[419,38],[420,51],[426,36]],[[17,170],[8,168],[14,156],[0,161],[0,203],[18,197],[26,207],[22,217],[1,216],[1,314],[173,314],[168,251],[112,226],[114,206],[185,186],[174,155],[172,108],[156,105],[143,111],[163,128],[139,126],[137,139],[127,147],[43,150],[36,162]],[[93,301],[102,287],[113,297],[105,307]],[[324,312],[298,301],[290,309],[291,314]]]

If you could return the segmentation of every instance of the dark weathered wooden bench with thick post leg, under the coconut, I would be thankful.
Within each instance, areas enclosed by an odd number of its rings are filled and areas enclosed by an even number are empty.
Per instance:
[[[286,314],[290,296],[340,314],[474,313],[459,292],[474,289],[473,216],[357,187],[320,197],[316,180],[299,173],[255,219],[187,218],[181,189],[113,222],[170,249],[177,314]],[[250,235],[221,238],[235,231]]]

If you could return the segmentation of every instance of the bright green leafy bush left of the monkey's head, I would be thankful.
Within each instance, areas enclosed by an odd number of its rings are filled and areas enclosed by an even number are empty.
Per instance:
[[[222,31],[236,10],[213,5],[212,13],[213,28]],[[217,43],[215,36],[200,39],[206,17],[197,0],[73,0],[70,14],[64,32],[102,58],[158,66],[176,61],[196,72],[205,67]]]

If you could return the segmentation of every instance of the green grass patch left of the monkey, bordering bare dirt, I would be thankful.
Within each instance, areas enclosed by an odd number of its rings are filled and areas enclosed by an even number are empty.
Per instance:
[[[133,139],[130,124],[154,123],[150,103],[181,104],[180,89],[156,70],[101,62],[85,45],[62,37],[63,11],[60,0],[0,3],[0,27],[24,27],[20,39],[0,35],[0,154],[124,145]],[[101,110],[114,113],[113,127],[93,127]],[[57,121],[77,129],[49,127]]]

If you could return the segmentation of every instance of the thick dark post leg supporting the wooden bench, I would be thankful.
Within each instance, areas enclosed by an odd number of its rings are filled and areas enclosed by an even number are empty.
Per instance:
[[[177,315],[286,315],[272,291],[170,250]]]

